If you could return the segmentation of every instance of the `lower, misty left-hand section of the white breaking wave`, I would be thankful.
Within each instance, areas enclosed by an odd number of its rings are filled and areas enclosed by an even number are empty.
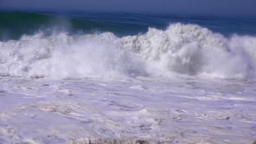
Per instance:
[[[24,36],[1,43],[0,74],[58,78],[146,75],[142,58],[121,49],[119,41],[112,33]]]

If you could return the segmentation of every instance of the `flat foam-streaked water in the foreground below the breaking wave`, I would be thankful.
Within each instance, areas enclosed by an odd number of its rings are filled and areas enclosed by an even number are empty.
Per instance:
[[[0,81],[0,143],[256,140],[255,81],[199,77],[129,81],[2,77]]]

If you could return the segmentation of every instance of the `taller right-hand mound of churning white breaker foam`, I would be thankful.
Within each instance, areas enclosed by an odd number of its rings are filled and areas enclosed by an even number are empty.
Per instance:
[[[149,28],[144,35],[123,38],[124,46],[162,71],[250,79],[255,77],[255,37],[230,39],[198,25]]]

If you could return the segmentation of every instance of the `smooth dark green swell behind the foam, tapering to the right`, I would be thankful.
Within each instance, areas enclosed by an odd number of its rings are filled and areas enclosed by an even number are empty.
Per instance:
[[[96,16],[95,16],[96,17]],[[23,12],[1,13],[0,19],[0,41],[9,39],[19,40],[24,34],[33,35],[44,32],[44,35],[59,34],[68,32],[69,34],[114,32],[119,33],[123,27],[117,27],[115,23],[106,23],[97,20],[95,17],[72,17],[65,14],[36,14]],[[126,27],[129,28],[129,27]],[[130,34],[130,33],[128,33]]]

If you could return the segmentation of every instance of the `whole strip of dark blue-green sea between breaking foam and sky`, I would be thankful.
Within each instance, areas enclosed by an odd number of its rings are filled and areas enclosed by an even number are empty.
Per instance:
[[[170,23],[196,24],[221,33],[256,35],[255,17],[185,14],[131,14],[53,11],[1,11],[0,39],[19,39],[38,31],[51,34],[113,32],[118,37],[146,33],[149,27],[166,29]]]

